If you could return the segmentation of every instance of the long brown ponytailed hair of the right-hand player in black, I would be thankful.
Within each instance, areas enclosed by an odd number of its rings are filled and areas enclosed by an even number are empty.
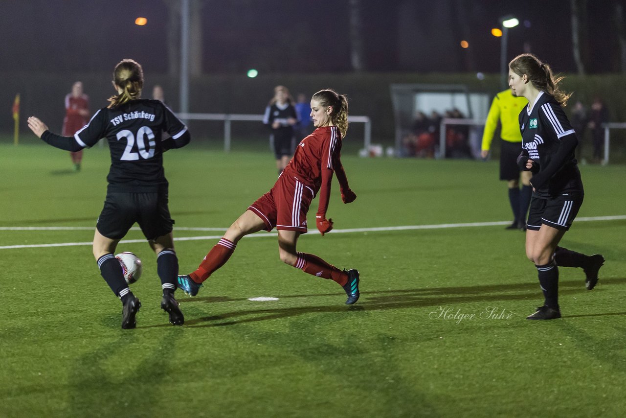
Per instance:
[[[509,63],[509,68],[518,76],[526,75],[537,90],[545,91],[554,97],[561,106],[567,105],[567,100],[572,93],[558,88],[558,83],[563,80],[563,76],[555,76],[547,63],[541,62],[534,54],[521,54],[513,58]]]

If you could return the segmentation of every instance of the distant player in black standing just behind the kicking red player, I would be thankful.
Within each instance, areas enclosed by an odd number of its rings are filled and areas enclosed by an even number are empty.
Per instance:
[[[274,97],[265,108],[263,123],[270,127],[278,173],[287,167],[294,154],[294,125],[298,122],[294,100],[285,86],[274,87]]]

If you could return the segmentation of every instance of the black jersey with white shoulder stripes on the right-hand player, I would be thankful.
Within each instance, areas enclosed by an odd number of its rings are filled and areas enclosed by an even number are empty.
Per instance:
[[[520,130],[521,147],[539,167],[538,172],[533,170],[539,176],[551,162],[555,163],[554,157],[562,140],[568,135],[576,135],[561,105],[543,91],[539,93],[535,103],[528,103],[521,111]],[[536,197],[570,200],[583,196],[583,184],[573,149],[565,157],[561,167],[550,167],[546,172],[554,174],[543,187],[535,191]]]

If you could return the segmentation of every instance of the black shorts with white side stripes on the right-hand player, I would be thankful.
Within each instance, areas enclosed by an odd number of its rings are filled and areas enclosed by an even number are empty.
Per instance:
[[[526,228],[539,231],[541,224],[567,231],[583,204],[583,197],[571,201],[557,199],[539,199],[533,196],[530,201],[530,212]]]

